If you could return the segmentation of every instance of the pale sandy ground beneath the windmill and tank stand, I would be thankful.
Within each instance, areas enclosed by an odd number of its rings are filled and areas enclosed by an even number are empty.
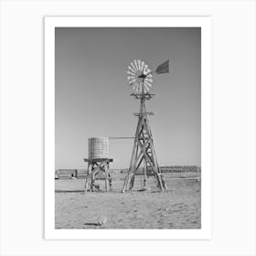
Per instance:
[[[141,188],[121,193],[123,180],[113,181],[112,192],[82,192],[83,179],[56,180],[56,229],[200,229],[201,182],[195,174],[167,175],[168,191],[160,192],[154,178]],[[98,182],[102,189],[103,183]],[[106,223],[98,226],[98,219]]]

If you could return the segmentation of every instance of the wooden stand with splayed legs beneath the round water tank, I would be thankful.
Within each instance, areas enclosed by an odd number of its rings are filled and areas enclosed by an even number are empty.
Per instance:
[[[111,158],[97,158],[88,159],[84,158],[84,162],[88,163],[88,172],[85,178],[84,192],[94,191],[96,177],[103,172],[105,179],[105,191],[110,191],[112,189],[112,177],[110,174],[110,162]]]

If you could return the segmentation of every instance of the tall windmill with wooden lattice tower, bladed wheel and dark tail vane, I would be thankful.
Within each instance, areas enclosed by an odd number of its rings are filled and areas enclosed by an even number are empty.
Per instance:
[[[157,187],[159,187],[161,191],[167,188],[164,176],[157,163],[153,136],[149,124],[148,117],[149,115],[153,115],[153,112],[146,111],[145,103],[155,96],[155,94],[148,92],[152,87],[153,74],[168,72],[169,59],[158,66],[155,71],[149,69],[148,65],[140,59],[134,59],[127,68],[128,81],[134,91],[131,96],[140,101],[140,110],[134,113],[135,116],[138,116],[138,123],[134,136],[130,167],[123,183],[123,192],[133,188],[135,176],[141,165],[143,165],[144,171],[144,187],[146,187],[147,176],[155,176]]]

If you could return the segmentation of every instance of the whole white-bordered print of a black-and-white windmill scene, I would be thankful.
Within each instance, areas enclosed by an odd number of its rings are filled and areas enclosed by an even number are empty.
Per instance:
[[[210,33],[45,17],[46,239],[210,239]]]

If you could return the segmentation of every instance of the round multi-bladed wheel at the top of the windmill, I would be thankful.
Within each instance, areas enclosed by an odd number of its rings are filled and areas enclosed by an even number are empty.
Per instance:
[[[140,59],[134,59],[127,68],[127,78],[133,90],[137,93],[149,91],[152,87],[152,71]]]

